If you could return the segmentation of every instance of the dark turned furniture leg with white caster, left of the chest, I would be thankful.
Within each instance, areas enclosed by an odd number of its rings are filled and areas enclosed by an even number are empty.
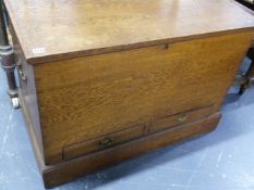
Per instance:
[[[1,56],[1,66],[5,71],[8,79],[8,94],[11,98],[11,102],[14,109],[20,106],[17,87],[15,81],[15,55],[12,49],[12,46],[8,39],[7,31],[7,14],[4,13],[4,7],[2,0],[0,0],[0,56]]]

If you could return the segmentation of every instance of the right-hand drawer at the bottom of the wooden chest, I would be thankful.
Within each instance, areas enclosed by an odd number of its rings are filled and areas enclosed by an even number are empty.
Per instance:
[[[155,132],[158,130],[164,130],[177,125],[182,125],[185,123],[194,122],[204,117],[207,117],[211,114],[213,106],[207,105],[201,109],[185,111],[183,113],[174,114],[171,116],[167,116],[155,121],[150,124],[149,132]]]

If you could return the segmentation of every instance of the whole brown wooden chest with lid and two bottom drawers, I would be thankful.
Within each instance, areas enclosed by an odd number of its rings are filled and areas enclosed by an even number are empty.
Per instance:
[[[254,37],[231,0],[5,0],[45,186],[213,130]]]

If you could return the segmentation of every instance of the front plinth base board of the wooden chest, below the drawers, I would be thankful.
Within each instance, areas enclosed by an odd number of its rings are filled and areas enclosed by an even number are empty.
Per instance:
[[[183,139],[209,132],[216,128],[219,118],[220,114],[217,113],[205,119],[189,123],[89,156],[82,156],[53,167],[45,167],[43,170],[45,186],[51,188]]]

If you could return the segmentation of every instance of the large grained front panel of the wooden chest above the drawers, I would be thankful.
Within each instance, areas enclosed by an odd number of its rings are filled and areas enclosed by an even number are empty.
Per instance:
[[[219,110],[253,33],[35,66],[47,163],[62,148],[188,110]]]

